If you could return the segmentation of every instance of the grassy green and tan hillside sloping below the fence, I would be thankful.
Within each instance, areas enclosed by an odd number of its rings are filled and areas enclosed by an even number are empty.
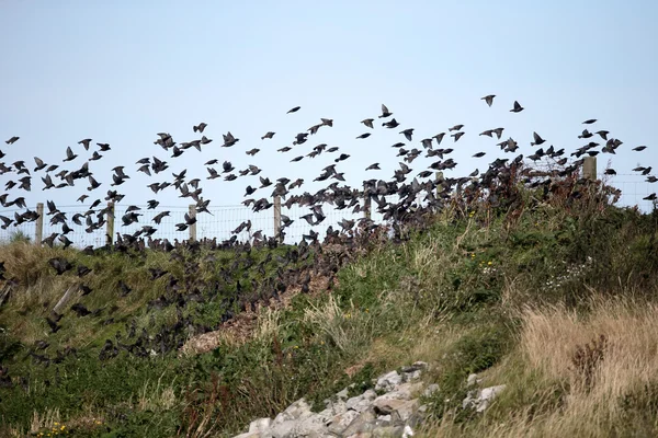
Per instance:
[[[427,436],[655,435],[658,214],[611,206],[600,183],[512,188],[504,203],[453,200],[393,240],[8,244],[0,435],[237,434],[410,360],[440,385]],[[53,257],[75,267],[56,275]],[[472,372],[508,385],[484,415],[462,408]]]

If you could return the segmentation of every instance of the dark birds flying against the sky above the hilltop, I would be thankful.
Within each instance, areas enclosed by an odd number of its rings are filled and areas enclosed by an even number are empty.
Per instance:
[[[487,105],[492,106],[494,100],[496,95],[490,94],[481,97],[486,102]],[[294,114],[300,110],[299,106],[295,106],[291,108],[287,113]],[[524,107],[517,101],[514,101],[512,108],[510,112],[512,113],[521,113],[524,111]],[[400,126],[395,117],[393,117],[393,113],[388,110],[386,105],[382,105],[382,113],[377,116],[377,118],[383,119],[381,124],[382,127],[387,129],[395,129]],[[597,120],[588,119],[585,120],[583,124],[592,125]],[[365,131],[355,138],[367,139],[372,135],[372,130],[375,129],[375,118],[365,118],[361,120],[368,131]],[[299,149],[299,147],[307,141],[309,141],[309,136],[317,134],[322,128],[331,128],[333,126],[333,119],[330,118],[321,118],[320,123],[309,127],[305,132],[299,132],[292,140],[292,146],[286,146],[281,149],[277,149],[279,152],[286,153],[290,151],[294,151]],[[206,137],[204,135],[205,129],[208,127],[206,123],[200,123],[196,126],[193,126],[193,131],[201,135],[201,138],[183,141],[178,143],[174,141],[172,136],[168,132],[159,132],[158,138],[155,141],[155,145],[160,146],[164,151],[170,152],[170,158],[174,159],[181,157],[189,149],[194,148],[198,151],[207,145],[212,143],[214,140]],[[293,205],[298,205],[302,207],[309,207],[309,212],[299,217],[299,220],[305,220],[311,227],[318,226],[321,223],[326,215],[322,211],[324,204],[331,204],[336,207],[336,209],[341,210],[344,208],[352,209],[352,212],[358,214],[363,206],[360,204],[360,199],[363,199],[363,196],[370,196],[377,205],[378,210],[384,214],[384,219],[395,219],[396,214],[400,210],[407,209],[413,201],[417,200],[417,196],[419,194],[424,195],[424,201],[429,204],[440,203],[441,194],[439,196],[433,196],[435,193],[436,184],[441,184],[441,187],[445,193],[450,193],[452,188],[456,185],[463,185],[466,183],[472,183],[474,185],[487,186],[491,183],[491,181],[496,177],[496,173],[503,166],[509,165],[510,163],[521,163],[524,159],[523,154],[518,154],[514,159],[497,159],[489,164],[489,170],[483,173],[479,178],[476,180],[479,172],[475,171],[465,177],[454,177],[454,178],[445,178],[444,181],[438,182],[433,175],[438,171],[452,170],[456,166],[456,162],[450,158],[450,154],[454,151],[453,148],[444,147],[441,145],[444,141],[444,137],[450,135],[452,137],[453,142],[456,143],[460,139],[465,135],[463,130],[464,125],[457,124],[447,129],[447,131],[439,132],[432,137],[420,139],[420,141],[416,140],[417,147],[415,147],[413,139],[413,128],[405,128],[399,131],[402,136],[400,140],[392,147],[397,151],[395,157],[400,158],[402,161],[399,163],[399,169],[394,172],[393,178],[389,181],[385,180],[367,180],[363,182],[363,185],[360,185],[358,189],[352,188],[348,185],[340,185],[345,182],[344,172],[341,172],[339,166],[340,163],[350,159],[350,154],[347,153],[349,151],[342,151],[339,147],[328,147],[326,143],[320,143],[315,147],[307,153],[299,154],[294,157],[291,162],[299,162],[305,159],[313,159],[319,157],[321,154],[334,153],[336,158],[332,160],[332,163],[327,165],[320,175],[318,175],[314,182],[324,182],[330,181],[331,183],[327,185],[327,187],[310,194],[308,192],[299,195],[291,195],[291,191],[295,188],[302,187],[304,184],[303,178],[296,178],[294,181],[287,177],[280,177],[277,180],[271,180],[270,177],[263,176],[261,174],[262,170],[254,164],[249,164],[243,170],[237,170],[234,164],[228,160],[219,160],[213,159],[205,162],[205,166],[207,170],[207,175],[205,175],[206,180],[215,180],[223,178],[226,182],[236,181],[240,177],[256,176],[258,175],[258,182],[260,184],[249,184],[245,188],[245,197],[247,199],[243,204],[253,211],[261,211],[264,209],[269,209],[273,206],[272,198],[274,196],[284,197],[285,206],[292,207]],[[501,140],[497,143],[498,147],[504,152],[513,153],[519,148],[520,145],[509,137],[508,139],[502,139],[504,128],[497,127],[492,129],[486,129],[479,132],[479,136],[487,136],[490,138],[496,137],[497,140]],[[530,143],[531,147],[538,147],[533,153],[527,154],[525,157],[526,160],[538,161],[542,159],[553,160],[556,164],[565,166],[561,174],[568,174],[577,170],[583,161],[585,155],[595,155],[600,152],[602,153],[615,153],[616,149],[623,143],[621,140],[616,138],[609,138],[609,131],[601,129],[594,132],[590,132],[589,129],[583,129],[581,135],[578,136],[579,139],[583,139],[588,141],[582,147],[578,148],[570,155],[575,157],[575,160],[569,162],[569,157],[566,154],[565,149],[557,149],[553,146],[548,148],[544,148],[543,145],[546,140],[544,140],[537,132],[533,132],[533,141]],[[261,137],[261,140],[272,139],[275,136],[274,131],[268,131]],[[595,141],[592,137],[597,136],[599,141],[602,141],[603,146]],[[20,137],[14,136],[5,141],[7,145],[13,146],[16,141],[20,140]],[[220,147],[223,148],[231,148],[235,147],[240,141],[239,138],[235,137],[230,131],[223,135],[223,142]],[[82,139],[78,141],[81,148],[84,151],[89,151],[92,148],[93,140],[90,138]],[[0,215],[1,228],[8,229],[10,226],[18,227],[25,222],[35,221],[38,218],[38,214],[34,210],[26,208],[25,197],[16,196],[13,199],[10,199],[10,191],[27,191],[32,189],[32,181],[33,174],[37,172],[42,172],[43,176],[41,180],[43,182],[43,189],[58,189],[75,186],[76,182],[79,180],[86,180],[88,183],[87,193],[82,194],[78,197],[78,201],[86,203],[92,194],[98,193],[103,186],[103,182],[99,182],[94,174],[90,170],[90,163],[92,161],[97,161],[102,159],[103,154],[111,151],[111,147],[109,143],[95,142],[98,150],[93,150],[91,157],[89,157],[79,169],[68,170],[61,169],[60,164],[47,164],[44,160],[38,157],[34,157],[35,166],[32,171],[29,169],[29,165],[24,160],[19,160],[10,165],[5,162],[0,162],[0,175],[15,175],[14,178],[9,180],[5,185],[5,192],[0,196],[0,204],[4,208],[18,207],[25,209],[25,211],[19,214],[14,212],[13,218]],[[599,147],[602,148],[599,149]],[[635,147],[634,151],[642,151],[646,149],[646,146]],[[252,148],[247,150],[246,153],[248,155],[256,155],[260,152],[260,149]],[[66,158],[63,159],[64,163],[72,163],[76,159],[81,155],[81,150],[73,150],[71,147],[66,149]],[[483,158],[487,152],[481,151],[475,153],[474,158]],[[433,161],[427,169],[423,169],[421,172],[417,174],[417,176],[408,182],[410,173],[412,172],[410,165],[411,163],[424,154],[426,158],[433,159]],[[4,153],[0,151],[0,159],[4,157]],[[136,172],[141,172],[149,177],[156,177],[160,175],[164,171],[169,169],[169,163],[166,159],[158,158],[156,155],[145,157],[136,162]],[[365,168],[366,171],[377,171],[379,169],[379,163],[375,162]],[[111,207],[105,201],[114,201],[120,203],[124,198],[124,194],[120,193],[121,186],[123,186],[127,180],[131,178],[129,173],[126,170],[126,166],[118,165],[113,170],[113,174],[111,176],[111,188],[106,191],[105,196],[97,197],[88,207],[88,210],[83,214],[75,214],[70,219],[67,218],[67,214],[60,211],[54,201],[48,200],[46,216],[48,216],[50,226],[59,226],[61,224],[61,232],[56,232],[44,239],[42,243],[47,245],[53,245],[56,240],[58,240],[65,246],[69,246],[72,242],[67,238],[67,234],[73,231],[71,226],[83,226],[84,231],[87,233],[93,233],[95,230],[100,230],[106,222],[106,217],[110,215]],[[634,169],[635,172],[640,172],[643,175],[647,175],[647,180],[649,183],[654,183],[658,181],[655,175],[650,175],[651,168],[638,166]],[[616,172],[613,169],[606,169],[606,174],[615,174]],[[22,176],[21,176],[22,175]],[[166,189],[177,189],[180,193],[180,198],[190,198],[195,203],[196,212],[208,214],[208,206],[211,199],[206,199],[203,196],[203,187],[202,187],[202,177],[188,176],[188,171],[183,170],[180,173],[172,173],[173,180],[170,181],[160,181],[152,182],[147,185],[147,187],[152,191],[154,198],[148,200],[147,209],[157,209],[159,201],[157,199],[158,194]],[[272,188],[272,192],[268,194],[266,197],[252,197],[257,192],[266,189],[268,187]],[[362,188],[363,187],[363,188]],[[399,200],[397,203],[389,203],[386,200],[386,196],[388,195],[398,195]],[[653,200],[656,198],[656,194],[651,194],[645,199]],[[131,226],[133,223],[139,223],[139,219],[143,216],[140,212],[141,208],[136,205],[131,205],[126,208],[125,214],[121,217],[122,226]],[[152,235],[157,232],[157,226],[161,224],[161,221],[164,217],[169,216],[171,211],[161,211],[152,218],[152,224],[143,224],[143,227],[132,234],[123,234],[117,233],[117,239],[127,240],[128,242],[137,241],[141,238],[146,238],[148,240],[148,246],[158,246],[160,243],[164,243],[162,240],[154,240]],[[70,222],[69,222],[70,220]],[[365,220],[365,219],[364,219]],[[295,219],[291,219],[287,216],[282,217],[282,233],[285,235],[285,229],[290,227]],[[175,224],[175,229],[178,231],[184,231],[190,226],[196,222],[195,215],[185,214],[183,221]],[[342,231],[350,231],[355,226],[354,221],[343,220],[339,223]],[[247,231],[249,235],[253,239],[262,240],[262,231],[252,231],[251,221],[245,221],[234,231],[232,242],[237,241],[237,234],[242,231]],[[281,238],[282,235],[275,237]]]

